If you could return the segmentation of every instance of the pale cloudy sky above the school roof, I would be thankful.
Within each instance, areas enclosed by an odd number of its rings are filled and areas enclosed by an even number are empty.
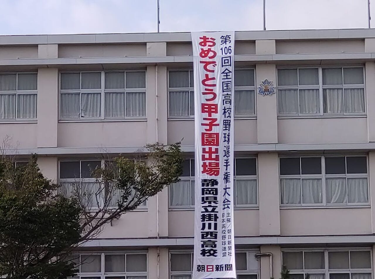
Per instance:
[[[266,27],[367,28],[367,2],[266,0]],[[0,34],[155,32],[156,3],[157,0],[0,0]],[[160,0],[160,32],[261,30],[262,6],[263,0]]]

